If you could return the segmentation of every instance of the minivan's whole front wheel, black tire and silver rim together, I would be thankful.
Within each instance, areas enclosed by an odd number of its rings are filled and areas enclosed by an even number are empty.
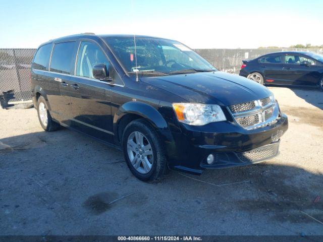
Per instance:
[[[160,138],[144,119],[127,125],[122,146],[130,171],[140,180],[155,181],[167,170],[167,160]]]

